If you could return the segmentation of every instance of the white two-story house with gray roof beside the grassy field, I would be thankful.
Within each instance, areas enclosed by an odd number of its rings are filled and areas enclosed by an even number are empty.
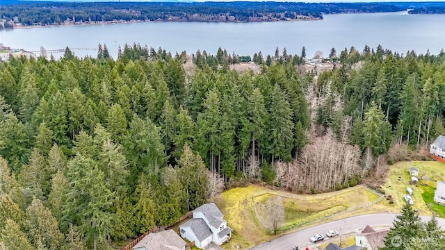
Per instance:
[[[207,203],[192,211],[193,218],[179,226],[182,238],[195,242],[195,246],[204,249],[211,242],[223,244],[232,236],[232,228],[227,226],[215,203]]]

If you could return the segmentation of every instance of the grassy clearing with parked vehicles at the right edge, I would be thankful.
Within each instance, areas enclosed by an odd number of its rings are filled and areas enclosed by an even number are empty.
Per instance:
[[[419,169],[419,185],[417,187],[410,184],[410,167],[417,167]],[[445,165],[436,161],[413,161],[405,163],[397,163],[389,167],[385,186],[382,189],[386,196],[391,195],[394,203],[390,204],[388,200],[382,203],[389,208],[389,210],[398,213],[400,212],[405,199],[403,194],[406,194],[406,188],[410,187],[413,190],[412,199],[414,200],[414,209],[418,209],[422,215],[431,215],[428,208],[428,203],[431,203],[433,210],[438,210],[443,213],[445,217],[445,207],[439,206],[432,201],[434,197],[434,190],[436,188],[437,180],[445,180]],[[421,183],[425,183],[428,187],[423,187]],[[444,212],[441,212],[441,210]],[[441,216],[442,217],[442,216]]]

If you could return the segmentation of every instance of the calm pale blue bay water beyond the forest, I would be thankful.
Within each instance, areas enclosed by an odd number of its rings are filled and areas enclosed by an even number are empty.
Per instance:
[[[0,42],[6,46],[39,51],[65,47],[96,48],[106,44],[115,58],[118,45],[133,42],[166,51],[197,49],[215,54],[218,47],[229,53],[250,55],[261,51],[264,55],[280,52],[301,53],[306,48],[307,57],[316,51],[325,56],[334,47],[337,52],[356,47],[362,51],[365,44],[376,48],[406,53],[437,54],[445,49],[445,15],[408,15],[406,12],[378,14],[325,15],[323,21],[263,22],[263,23],[175,23],[143,22],[97,26],[60,26],[22,28],[1,31]],[[97,51],[74,50],[77,56],[97,55]],[[55,53],[56,58],[61,53]]]

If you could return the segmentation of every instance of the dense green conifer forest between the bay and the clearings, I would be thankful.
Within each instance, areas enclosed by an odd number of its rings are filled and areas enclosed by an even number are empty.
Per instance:
[[[253,58],[257,74],[223,49],[136,44],[0,62],[0,248],[118,249],[225,185],[347,188],[445,133],[445,53],[333,49],[325,71],[304,48]]]

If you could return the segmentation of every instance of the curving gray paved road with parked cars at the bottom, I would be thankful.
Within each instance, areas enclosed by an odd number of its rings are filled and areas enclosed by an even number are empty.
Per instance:
[[[385,214],[371,214],[371,215],[359,215],[355,217],[349,217],[345,219],[340,219],[335,222],[328,222],[326,224],[321,224],[318,226],[313,226],[311,228],[305,228],[300,231],[289,233],[276,238],[275,240],[270,240],[264,244],[253,247],[252,250],[291,250],[293,246],[298,246],[300,249],[305,249],[305,247],[315,247],[319,244],[327,242],[329,238],[326,237],[326,232],[334,229],[340,234],[348,233],[359,233],[364,229],[366,225],[371,227],[380,226],[392,226],[396,215],[391,213]],[[423,221],[428,221],[430,217],[421,216]],[[437,218],[439,226],[445,228],[445,219]],[[312,235],[323,234],[325,240],[323,242],[318,242],[317,244],[312,244],[310,238]],[[338,238],[339,236],[337,236]]]

